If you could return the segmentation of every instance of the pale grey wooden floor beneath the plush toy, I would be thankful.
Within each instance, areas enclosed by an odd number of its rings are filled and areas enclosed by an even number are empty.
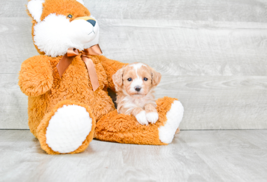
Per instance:
[[[267,130],[181,131],[168,146],[93,140],[47,155],[29,130],[0,130],[0,182],[266,182]]]

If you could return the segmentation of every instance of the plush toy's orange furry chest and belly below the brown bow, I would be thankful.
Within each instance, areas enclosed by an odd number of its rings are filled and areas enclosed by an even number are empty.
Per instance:
[[[72,100],[84,103],[91,107],[95,119],[106,115],[115,109],[112,99],[104,91],[107,87],[107,76],[100,60],[92,58],[97,72],[100,87],[94,92],[89,78],[88,70],[81,57],[77,56],[67,68],[62,79],[58,78],[56,67],[54,67],[54,80],[51,97],[56,102],[61,100]],[[55,103],[56,104],[56,103]],[[53,107],[53,106],[51,106]],[[51,108],[50,108],[51,109]]]

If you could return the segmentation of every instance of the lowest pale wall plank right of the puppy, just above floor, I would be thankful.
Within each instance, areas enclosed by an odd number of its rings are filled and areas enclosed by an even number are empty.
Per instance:
[[[183,130],[267,128],[267,76],[164,76],[156,93],[182,102]]]

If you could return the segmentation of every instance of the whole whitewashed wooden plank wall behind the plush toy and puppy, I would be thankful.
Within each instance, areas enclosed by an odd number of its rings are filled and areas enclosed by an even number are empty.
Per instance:
[[[183,130],[267,129],[267,0],[84,0],[103,54],[163,75]],[[18,85],[33,46],[27,0],[0,0],[0,129],[28,129]]]

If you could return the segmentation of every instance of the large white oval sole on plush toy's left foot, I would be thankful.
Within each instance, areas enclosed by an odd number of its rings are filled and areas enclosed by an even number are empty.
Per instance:
[[[63,105],[46,128],[46,143],[53,150],[69,153],[78,149],[92,130],[92,118],[79,105]]]

